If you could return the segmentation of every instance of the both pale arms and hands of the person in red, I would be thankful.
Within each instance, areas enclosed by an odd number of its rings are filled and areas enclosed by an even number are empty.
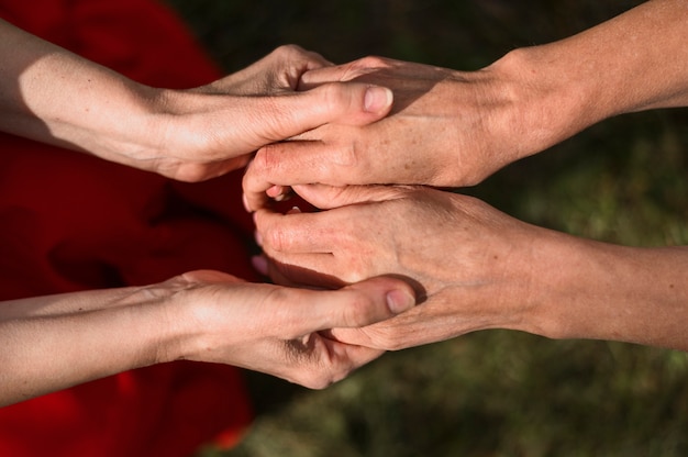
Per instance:
[[[186,181],[240,168],[265,144],[328,122],[373,122],[392,101],[389,90],[368,83],[297,92],[304,71],[330,64],[296,46],[208,86],[169,90],[129,80],[3,21],[0,36],[0,130]],[[322,388],[380,350],[319,331],[367,325],[413,302],[413,290],[392,278],[308,291],[218,271],[4,301],[0,405],[177,359]]]

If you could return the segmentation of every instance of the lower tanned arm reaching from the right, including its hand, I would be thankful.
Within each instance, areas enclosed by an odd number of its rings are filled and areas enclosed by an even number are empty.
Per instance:
[[[335,328],[336,339],[390,350],[511,328],[688,350],[686,247],[582,239],[429,188],[297,189],[341,208],[256,212],[274,279],[333,287],[384,272],[417,281],[426,297],[389,321]]]

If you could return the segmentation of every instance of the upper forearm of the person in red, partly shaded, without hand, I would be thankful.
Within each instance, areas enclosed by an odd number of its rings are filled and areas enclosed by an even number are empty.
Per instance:
[[[0,130],[118,161],[158,146],[159,91],[4,21],[0,36]]]

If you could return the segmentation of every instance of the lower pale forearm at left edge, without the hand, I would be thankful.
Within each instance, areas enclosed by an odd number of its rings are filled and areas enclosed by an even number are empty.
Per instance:
[[[1,303],[0,405],[174,359],[189,320],[165,287]]]

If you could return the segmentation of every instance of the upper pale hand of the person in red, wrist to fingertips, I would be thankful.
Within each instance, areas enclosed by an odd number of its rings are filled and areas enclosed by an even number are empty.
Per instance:
[[[240,168],[259,147],[328,122],[360,125],[386,115],[391,92],[367,83],[329,83],[297,92],[300,77],[329,64],[297,46],[282,46],[208,86],[159,97],[171,114],[155,156],[138,167],[185,181]],[[143,164],[143,165],[141,165]]]

